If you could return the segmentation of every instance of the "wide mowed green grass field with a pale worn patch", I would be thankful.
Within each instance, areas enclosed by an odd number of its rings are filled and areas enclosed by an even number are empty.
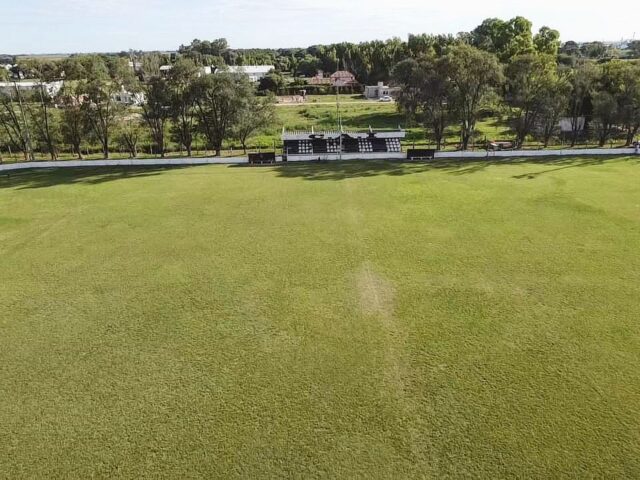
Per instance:
[[[0,177],[0,477],[640,477],[640,162]]]

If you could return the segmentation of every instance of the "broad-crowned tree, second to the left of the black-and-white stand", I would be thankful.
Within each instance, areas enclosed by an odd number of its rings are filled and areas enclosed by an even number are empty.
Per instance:
[[[222,142],[232,134],[253,86],[246,75],[219,73],[198,78],[194,92],[198,126],[220,156]]]

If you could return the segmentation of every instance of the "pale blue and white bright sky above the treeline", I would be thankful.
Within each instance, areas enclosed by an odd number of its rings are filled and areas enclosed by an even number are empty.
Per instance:
[[[306,47],[409,33],[457,33],[522,15],[562,40],[640,37],[638,0],[0,0],[0,53],[176,50],[194,38],[234,48]],[[624,12],[628,12],[625,14]]]

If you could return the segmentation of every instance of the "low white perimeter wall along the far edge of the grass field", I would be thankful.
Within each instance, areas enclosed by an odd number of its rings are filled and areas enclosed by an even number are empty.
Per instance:
[[[451,159],[481,159],[481,158],[513,158],[513,157],[575,157],[602,155],[640,155],[636,148],[597,148],[584,150],[512,150],[497,152],[436,152],[436,158]],[[405,160],[406,153],[343,153],[321,155],[289,155],[290,162],[309,162],[314,160]],[[281,160],[281,157],[278,157]],[[226,158],[167,158],[149,160],[61,160],[57,162],[22,162],[0,164],[0,172],[24,170],[29,168],[76,168],[76,167],[144,167],[144,166],[172,166],[172,165],[238,165],[248,163],[247,157]]]

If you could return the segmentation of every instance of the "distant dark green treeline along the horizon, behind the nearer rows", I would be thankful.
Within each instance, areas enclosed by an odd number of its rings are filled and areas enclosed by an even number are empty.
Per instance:
[[[386,41],[362,43],[342,42],[314,45],[308,48],[233,49],[225,39],[194,40],[179,48],[202,65],[274,65],[279,72],[294,77],[310,77],[318,70],[335,72],[349,70],[363,84],[389,80],[391,68],[405,58],[416,58],[427,51],[442,53],[442,49],[456,43],[466,43],[493,53],[507,61],[518,53],[535,47],[537,51],[558,57],[559,63],[574,65],[580,59],[607,60],[623,55],[640,58],[640,41],[630,42],[626,52],[620,52],[602,42],[560,44],[556,30],[543,27],[535,35],[532,24],[523,17],[511,20],[491,18],[471,32],[457,35],[409,35],[407,41],[392,38]]]

